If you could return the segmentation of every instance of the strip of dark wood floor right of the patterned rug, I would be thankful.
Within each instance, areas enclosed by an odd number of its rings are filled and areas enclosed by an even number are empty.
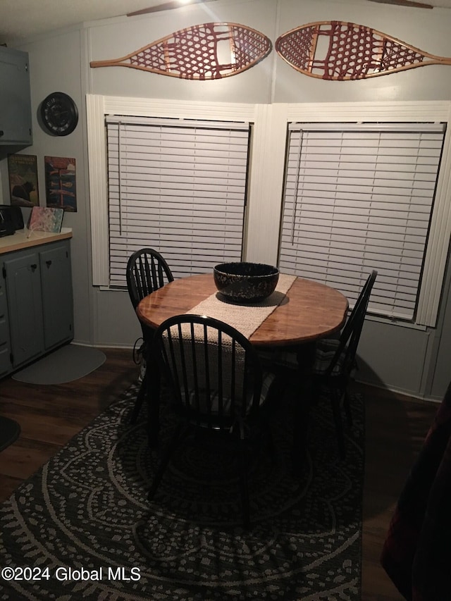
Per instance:
[[[354,388],[364,393],[366,409],[362,600],[402,600],[379,559],[397,498],[438,404]]]

